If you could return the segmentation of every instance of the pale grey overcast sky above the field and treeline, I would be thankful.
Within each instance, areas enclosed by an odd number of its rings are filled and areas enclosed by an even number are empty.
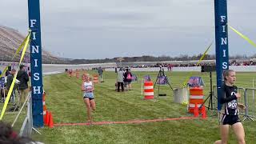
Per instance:
[[[194,55],[214,40],[214,0],[40,2],[43,49],[59,57]],[[255,5],[255,0],[228,0],[230,26],[254,42]],[[0,25],[27,34],[27,0],[0,0]],[[256,54],[255,47],[231,30],[229,41],[230,55]]]

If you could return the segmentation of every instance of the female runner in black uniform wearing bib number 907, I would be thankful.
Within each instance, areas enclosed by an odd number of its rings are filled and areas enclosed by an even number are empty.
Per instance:
[[[222,104],[222,110],[219,114],[222,140],[216,141],[215,144],[227,143],[230,126],[234,130],[238,143],[244,144],[246,143],[245,131],[238,117],[238,107],[241,109],[245,109],[246,107],[238,103],[238,98],[241,98],[241,95],[238,94],[237,86],[234,86],[236,79],[234,70],[226,70],[223,77],[225,82],[222,86],[222,97],[219,99],[219,102]]]

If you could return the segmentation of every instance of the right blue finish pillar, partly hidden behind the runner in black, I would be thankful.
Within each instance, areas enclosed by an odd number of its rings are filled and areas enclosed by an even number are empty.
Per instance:
[[[227,3],[226,0],[215,0],[215,45],[216,45],[216,75],[218,87],[218,110],[222,109],[219,98],[222,94],[223,70],[229,69],[228,33],[227,33]]]

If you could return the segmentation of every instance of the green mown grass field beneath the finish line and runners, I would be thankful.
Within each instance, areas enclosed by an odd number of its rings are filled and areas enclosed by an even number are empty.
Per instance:
[[[94,73],[94,72],[90,72]],[[134,72],[141,81],[150,74],[153,81],[157,72]],[[171,86],[178,88],[190,75],[186,72],[166,72]],[[202,76],[206,83],[205,95],[209,94],[210,78],[206,73],[193,73]],[[238,73],[238,85],[252,87],[255,73]],[[133,90],[124,93],[114,91],[116,74],[104,72],[105,82],[95,85],[97,110],[93,114],[94,122],[118,122],[156,118],[180,118],[192,116],[186,112],[186,106],[173,102],[173,92],[169,86],[161,86],[166,98],[142,100],[141,82],[133,82]],[[46,106],[54,115],[54,123],[86,122],[86,106],[80,90],[81,79],[68,78],[66,74],[54,74],[44,77]],[[216,83],[213,75],[213,83]],[[2,105],[1,105],[2,106]],[[39,129],[42,135],[33,134],[35,140],[45,143],[213,143],[219,139],[218,118],[216,112],[208,111],[208,119],[178,120],[168,122],[147,122],[141,124],[110,124],[102,126],[59,126]],[[6,114],[6,122],[12,122],[13,116]],[[246,130],[246,142],[255,143],[256,122],[243,122]],[[230,143],[236,143],[234,133],[230,132]]]

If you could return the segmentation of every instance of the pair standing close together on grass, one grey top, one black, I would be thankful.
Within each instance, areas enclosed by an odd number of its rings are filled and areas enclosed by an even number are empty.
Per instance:
[[[116,89],[118,92],[120,92],[120,87],[122,91],[125,90],[125,87],[126,90],[131,90],[131,81],[133,75],[131,74],[130,70],[127,68],[126,71],[124,71],[122,68],[120,68],[117,71],[117,75]]]

